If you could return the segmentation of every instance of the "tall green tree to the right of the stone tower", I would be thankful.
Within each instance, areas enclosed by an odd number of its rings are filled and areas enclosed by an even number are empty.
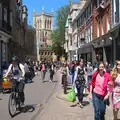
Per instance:
[[[52,50],[58,56],[58,59],[61,56],[67,57],[67,54],[64,50],[65,43],[65,24],[69,14],[69,5],[63,6],[58,9],[56,17],[56,29],[52,32]]]

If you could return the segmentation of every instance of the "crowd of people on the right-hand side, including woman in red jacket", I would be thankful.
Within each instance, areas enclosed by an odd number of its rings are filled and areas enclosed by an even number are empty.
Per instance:
[[[71,83],[77,89],[78,105],[83,108],[84,89],[87,87],[89,102],[92,101],[94,107],[94,119],[105,120],[106,106],[113,104],[114,120],[118,118],[120,108],[120,61],[111,67],[107,62],[98,62],[92,65],[72,61],[64,63],[62,67],[63,75],[71,75]],[[67,77],[63,77],[67,81]],[[62,79],[62,83],[63,83]],[[112,98],[111,98],[112,96]],[[110,103],[110,98],[112,103]]]

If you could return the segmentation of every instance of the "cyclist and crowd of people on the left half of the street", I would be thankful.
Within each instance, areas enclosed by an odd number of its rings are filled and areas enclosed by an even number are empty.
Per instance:
[[[49,72],[50,82],[53,81],[54,73],[56,72],[56,64],[51,61],[32,61],[31,59],[20,62],[17,56],[12,58],[12,61],[9,65],[4,64],[3,66],[3,75],[2,78],[9,79],[9,76],[12,76],[12,79],[16,81],[16,88],[20,93],[20,98],[22,104],[25,101],[24,87],[26,83],[32,83],[32,79],[40,73],[40,80],[42,83],[45,82],[46,72]],[[4,80],[6,79],[2,79]]]

